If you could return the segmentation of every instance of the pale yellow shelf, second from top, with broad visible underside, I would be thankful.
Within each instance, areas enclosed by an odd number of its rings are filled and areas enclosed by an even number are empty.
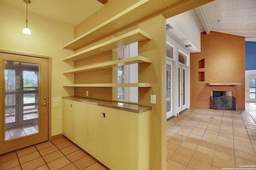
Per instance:
[[[112,49],[116,49],[118,47],[122,47],[124,45],[128,45],[128,44],[142,41],[145,39],[152,39],[152,38],[148,33],[144,32],[142,29],[137,28],[133,31],[130,31],[128,33],[125,33],[113,39],[110,39],[108,41],[105,41],[103,43],[90,47],[88,49],[85,49],[83,51],[80,51],[78,53],[65,57],[63,61],[66,61],[66,60],[76,61],[76,60],[84,59],[92,55],[110,51]]]

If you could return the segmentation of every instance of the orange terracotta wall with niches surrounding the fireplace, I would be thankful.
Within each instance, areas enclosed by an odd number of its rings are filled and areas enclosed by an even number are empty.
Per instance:
[[[236,98],[236,109],[245,109],[244,85],[206,84],[245,83],[244,37],[214,31],[210,35],[201,33],[201,53],[191,53],[190,57],[191,108],[210,108],[212,91],[232,91],[232,96]]]

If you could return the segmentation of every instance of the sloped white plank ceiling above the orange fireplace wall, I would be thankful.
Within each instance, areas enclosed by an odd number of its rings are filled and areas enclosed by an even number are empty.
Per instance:
[[[195,10],[206,33],[212,30],[256,41],[256,0],[215,0]],[[191,14],[195,15],[193,10]]]

